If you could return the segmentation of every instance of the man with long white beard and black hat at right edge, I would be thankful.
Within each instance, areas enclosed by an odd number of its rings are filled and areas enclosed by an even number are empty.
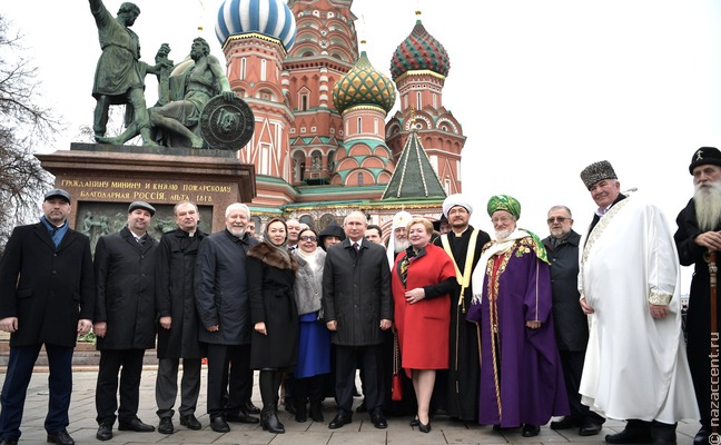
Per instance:
[[[694,266],[687,318],[689,366],[695,389],[701,429],[694,445],[709,443],[711,424],[711,342],[710,276],[708,254],[721,250],[721,151],[699,148],[691,158],[694,195],[676,218],[679,229],[673,236],[683,266]],[[717,260],[718,265],[718,260]],[[717,306],[717,319],[721,312]],[[718,395],[718,394],[717,394]],[[718,411],[715,411],[718,413]]]

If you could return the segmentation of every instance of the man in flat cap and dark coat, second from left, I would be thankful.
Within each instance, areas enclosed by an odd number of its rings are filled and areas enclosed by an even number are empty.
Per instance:
[[[140,375],[146,349],[155,347],[155,253],[158,241],[148,234],[155,208],[135,201],[128,207],[128,225],[100,237],[96,246],[97,299],[93,330],[98,336],[100,367],[96,387],[99,441],[118,429],[154,432],[138,418]],[[120,370],[122,368],[122,370]],[[118,408],[118,374],[120,407]],[[118,415],[116,417],[116,409]]]

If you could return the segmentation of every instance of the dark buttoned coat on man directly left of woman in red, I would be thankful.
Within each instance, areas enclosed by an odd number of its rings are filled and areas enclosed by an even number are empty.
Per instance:
[[[330,340],[343,346],[384,342],[381,320],[393,320],[391,269],[385,249],[363,240],[356,254],[348,239],[330,246],[323,268],[323,309],[337,322]]]

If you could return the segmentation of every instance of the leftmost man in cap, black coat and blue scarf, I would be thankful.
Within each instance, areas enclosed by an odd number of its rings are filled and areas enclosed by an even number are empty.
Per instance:
[[[45,196],[40,222],[17,227],[0,261],[0,329],[10,335],[2,386],[0,443],[17,444],[32,368],[45,344],[50,367],[48,442],[75,444],[68,435],[72,349],[92,327],[95,277],[90,240],[69,228],[70,195]]]

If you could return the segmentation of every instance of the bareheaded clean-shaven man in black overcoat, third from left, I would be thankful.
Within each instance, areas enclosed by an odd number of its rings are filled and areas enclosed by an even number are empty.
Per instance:
[[[172,434],[172,415],[178,395],[178,365],[182,358],[180,383],[180,425],[200,429],[195,416],[200,394],[200,360],[205,346],[198,340],[198,312],[195,303],[195,265],[200,241],[207,236],[198,229],[200,214],[189,201],[174,208],[178,228],[160,238],[156,251],[155,299],[158,312],[158,377],[156,404],[158,432]]]

